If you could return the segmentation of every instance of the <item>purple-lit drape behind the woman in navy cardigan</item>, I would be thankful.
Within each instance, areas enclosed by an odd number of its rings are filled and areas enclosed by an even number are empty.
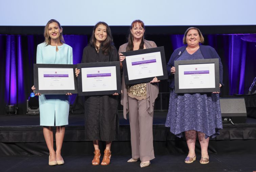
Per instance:
[[[253,68],[256,63],[255,43],[243,41],[241,37],[243,35],[238,34],[205,36],[205,45],[214,47],[221,58],[226,95],[246,94],[256,77]],[[184,46],[183,35],[171,35],[170,38],[173,49]]]

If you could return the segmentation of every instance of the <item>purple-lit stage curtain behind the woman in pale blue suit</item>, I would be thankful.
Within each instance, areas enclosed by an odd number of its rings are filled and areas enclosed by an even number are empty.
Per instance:
[[[73,48],[73,64],[81,62],[86,35],[64,35],[66,44]],[[26,100],[34,85],[33,64],[36,63],[37,45],[42,35],[0,35],[0,115],[6,105],[18,105],[18,114],[26,114]],[[71,96],[71,104],[76,99]]]

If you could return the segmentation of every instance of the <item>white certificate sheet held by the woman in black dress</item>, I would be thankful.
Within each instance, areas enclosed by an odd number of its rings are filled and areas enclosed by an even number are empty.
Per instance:
[[[117,90],[116,66],[81,68],[82,91]]]

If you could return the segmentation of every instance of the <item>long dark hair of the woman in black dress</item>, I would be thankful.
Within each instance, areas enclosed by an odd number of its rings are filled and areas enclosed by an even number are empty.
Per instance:
[[[108,26],[107,23],[105,22],[98,22],[92,30],[92,35],[90,38],[90,45],[93,46],[94,48],[97,49],[97,51],[99,51],[99,48],[96,46],[96,38],[95,38],[95,30],[96,28],[100,25],[103,24],[104,26],[106,26],[107,28],[107,38],[105,39],[105,41],[103,41],[100,45],[100,48],[103,52],[104,55],[108,55],[108,53],[110,52],[110,48],[113,48],[113,38],[112,38],[112,34],[111,34],[111,30],[110,27]]]

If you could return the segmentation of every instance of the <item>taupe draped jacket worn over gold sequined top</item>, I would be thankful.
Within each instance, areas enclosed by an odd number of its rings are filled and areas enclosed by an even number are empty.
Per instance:
[[[118,53],[125,52],[127,45],[128,45],[128,43],[121,45]],[[146,48],[157,47],[155,42],[147,41],[147,40],[144,40],[144,45]],[[155,103],[155,99],[157,98],[157,95],[158,95],[158,83],[151,84],[150,82],[148,82],[146,84],[147,84],[147,112],[149,114],[151,114],[154,111],[154,103]],[[124,81],[124,75],[122,77],[121,104],[124,107],[124,119],[127,119],[126,114],[129,112],[129,109],[128,109],[127,87],[126,87],[126,84]]]

